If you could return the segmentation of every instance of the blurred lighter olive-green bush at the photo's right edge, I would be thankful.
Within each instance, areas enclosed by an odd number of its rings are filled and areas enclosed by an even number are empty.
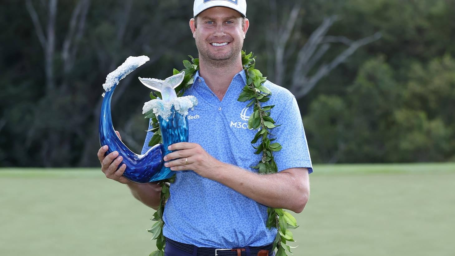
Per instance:
[[[455,59],[414,63],[404,91],[405,108],[395,113],[399,149],[408,161],[445,161],[455,156]]]

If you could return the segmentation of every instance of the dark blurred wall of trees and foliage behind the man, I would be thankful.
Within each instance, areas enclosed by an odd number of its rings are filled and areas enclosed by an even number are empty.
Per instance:
[[[197,56],[192,1],[1,7],[0,166],[99,166],[101,85],[147,55],[112,102],[114,127],[139,152],[150,91],[135,78],[168,77]],[[454,161],[454,10],[454,0],[248,0],[244,49],[298,98],[313,162]]]

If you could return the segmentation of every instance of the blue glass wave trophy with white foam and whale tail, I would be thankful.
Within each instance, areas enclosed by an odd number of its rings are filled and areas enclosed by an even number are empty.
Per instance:
[[[163,157],[170,153],[167,149],[167,146],[170,144],[188,141],[186,115],[188,108],[192,108],[197,104],[197,100],[193,96],[177,98],[175,95],[174,88],[183,81],[184,73],[169,77],[165,81],[152,78],[140,78],[149,81],[149,83],[161,85],[161,87],[153,87],[153,89],[161,91],[162,94],[167,97],[166,100],[155,99],[146,102],[143,108],[145,111],[144,113],[148,112],[150,109],[153,109],[154,113],[156,112],[155,114],[157,115],[162,131],[163,144],[159,143],[154,145],[142,155],[135,154],[127,148],[126,145],[121,142],[120,138],[118,138],[114,127],[112,126],[111,98],[119,81],[148,60],[149,58],[147,56],[130,56],[120,67],[106,77],[106,83],[103,84],[106,93],[103,94],[104,99],[101,105],[99,125],[100,144],[101,146],[107,145],[109,147],[106,155],[113,151],[117,151],[119,156],[123,157],[119,166],[126,164],[126,170],[123,173],[123,176],[126,179],[137,183],[146,183],[172,177],[173,172],[163,165]],[[141,82],[144,83],[142,80]],[[177,83],[177,85],[175,83]],[[170,88],[172,90],[169,90]],[[184,108],[186,108],[186,110]]]

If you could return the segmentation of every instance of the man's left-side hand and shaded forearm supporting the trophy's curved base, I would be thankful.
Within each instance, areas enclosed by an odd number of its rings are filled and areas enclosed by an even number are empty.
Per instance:
[[[116,131],[118,137],[120,134]],[[123,177],[123,172],[126,169],[126,165],[122,164],[120,168],[118,165],[121,163],[122,157],[118,156],[118,152],[114,151],[107,156],[105,153],[108,149],[108,146],[105,145],[98,150],[98,159],[101,163],[101,171],[106,175],[107,178],[116,180],[122,184],[126,184],[131,190],[131,194],[144,205],[147,205],[155,210],[157,210],[160,204],[161,196],[161,185],[157,182],[149,183],[135,183],[125,177]],[[118,168],[118,169],[117,169]]]

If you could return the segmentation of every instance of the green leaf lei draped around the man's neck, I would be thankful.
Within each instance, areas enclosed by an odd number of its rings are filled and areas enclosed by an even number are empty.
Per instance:
[[[199,59],[195,59],[192,56],[189,56],[191,61],[184,60],[183,65],[185,69],[185,78],[183,82],[175,88],[177,92],[177,96],[181,97],[183,93],[191,87],[194,82],[194,75],[196,74],[197,70],[199,70]],[[247,84],[243,87],[242,92],[238,97],[238,101],[240,102],[248,102],[247,107],[254,105],[253,107],[253,114],[250,116],[248,120],[248,128],[257,130],[258,132],[254,136],[253,140],[251,141],[252,145],[258,143],[258,146],[253,147],[256,149],[255,154],[262,154],[262,159],[258,163],[258,165],[254,166],[254,169],[258,169],[259,174],[274,174],[278,172],[277,164],[273,159],[273,152],[279,151],[282,147],[279,143],[272,143],[274,138],[269,139],[268,135],[270,133],[270,129],[273,129],[279,125],[275,124],[275,121],[270,117],[270,110],[274,107],[271,106],[262,106],[261,103],[267,102],[272,95],[270,90],[263,86],[263,83],[266,81],[266,77],[263,77],[262,73],[254,68],[256,56],[253,57],[253,53],[246,55],[244,51],[242,51],[242,65],[243,70],[245,70],[247,76]],[[178,71],[177,69],[173,70],[173,74],[181,73],[182,71]],[[155,99],[157,97],[161,97],[159,92],[150,93],[150,97]],[[156,116],[153,114],[152,111],[149,111],[145,114],[145,118],[152,118],[152,129],[153,136],[150,139],[149,145],[153,146],[157,143],[160,143],[161,140],[161,130],[157,122]],[[164,246],[166,244],[165,237],[162,234],[162,229],[164,222],[162,220],[164,206],[166,205],[166,201],[170,196],[169,193],[169,186],[170,183],[174,182],[175,176],[170,179],[162,180],[160,184],[162,185],[161,190],[161,200],[160,205],[158,207],[157,212],[153,215],[151,220],[157,221],[152,228],[150,228],[149,232],[153,234],[152,240],[157,240],[157,251],[153,251],[150,256],[164,256]],[[278,248],[276,256],[286,256],[287,252],[291,253],[291,248],[295,248],[293,246],[289,246],[286,244],[288,241],[294,241],[291,229],[295,229],[298,227],[297,221],[295,218],[288,212],[284,211],[283,209],[278,208],[271,208],[268,207],[267,209],[268,219],[267,219],[267,227],[269,229],[275,227],[278,229],[277,236],[273,243],[273,249]]]

